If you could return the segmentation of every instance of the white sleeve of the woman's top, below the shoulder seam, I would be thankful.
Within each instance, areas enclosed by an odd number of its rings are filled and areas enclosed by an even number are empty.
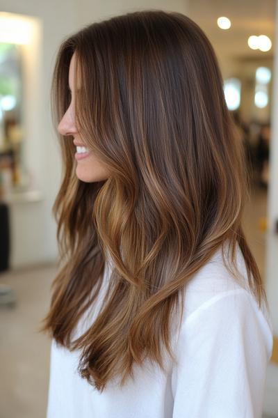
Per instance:
[[[173,418],[261,418],[272,329],[245,289],[188,316],[172,370]]]

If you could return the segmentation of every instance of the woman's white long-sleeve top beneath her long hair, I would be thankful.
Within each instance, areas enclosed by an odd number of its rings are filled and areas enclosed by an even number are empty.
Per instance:
[[[243,255],[240,271],[247,282]],[[106,263],[99,305],[111,266]],[[79,333],[97,316],[80,321]],[[218,250],[191,279],[181,330],[172,341],[177,364],[167,371],[135,366],[124,387],[100,393],[76,369],[79,351],[51,343],[47,418],[261,418],[265,374],[272,354],[270,313],[224,267]]]

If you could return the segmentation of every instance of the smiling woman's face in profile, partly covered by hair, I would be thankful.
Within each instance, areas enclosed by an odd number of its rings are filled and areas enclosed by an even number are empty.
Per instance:
[[[70,106],[67,108],[63,118],[61,119],[58,125],[58,132],[62,135],[70,135],[74,137],[74,144],[76,145],[76,153],[74,158],[76,159],[76,176],[86,182],[93,183],[96,181],[106,180],[108,178],[108,172],[102,166],[102,164],[96,159],[92,154],[92,151],[89,153],[80,153],[84,151],[83,144],[79,132],[76,130],[75,126],[75,117],[74,117],[74,78],[75,75],[75,59],[76,54],[74,53],[70,61],[70,70],[69,70],[69,86],[70,91],[72,92],[72,100]],[[69,139],[70,141],[71,139]]]

